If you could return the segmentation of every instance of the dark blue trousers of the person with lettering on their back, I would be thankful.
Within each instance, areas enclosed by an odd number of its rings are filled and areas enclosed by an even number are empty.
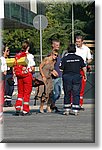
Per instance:
[[[79,105],[80,89],[81,89],[81,76],[80,74],[64,74],[63,89],[64,89],[64,105],[71,104],[71,94],[73,96],[73,105]]]

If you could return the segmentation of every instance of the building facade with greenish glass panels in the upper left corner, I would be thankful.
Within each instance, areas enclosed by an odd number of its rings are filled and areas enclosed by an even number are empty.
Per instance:
[[[38,14],[44,14],[44,5],[39,0],[4,1],[4,29],[32,28],[33,19]]]

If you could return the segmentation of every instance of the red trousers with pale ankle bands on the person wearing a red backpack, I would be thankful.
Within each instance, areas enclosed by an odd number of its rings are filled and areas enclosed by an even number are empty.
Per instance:
[[[29,112],[30,94],[32,91],[32,74],[23,78],[17,78],[18,81],[18,98],[15,104],[16,111],[20,111],[23,105],[23,112]]]

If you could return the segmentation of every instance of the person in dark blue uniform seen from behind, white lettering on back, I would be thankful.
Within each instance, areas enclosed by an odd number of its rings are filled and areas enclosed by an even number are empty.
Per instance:
[[[81,75],[80,68],[84,71],[86,79],[86,65],[82,57],[75,54],[76,47],[70,44],[68,54],[62,58],[60,69],[63,71],[63,89],[64,89],[64,112],[68,115],[72,112],[77,115],[79,113],[80,89],[81,89]],[[73,103],[71,108],[70,97],[73,96]]]

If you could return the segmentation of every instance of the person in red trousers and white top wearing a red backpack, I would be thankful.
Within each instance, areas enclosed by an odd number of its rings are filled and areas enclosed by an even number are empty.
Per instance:
[[[27,58],[27,65],[18,65],[14,67],[15,75],[17,76],[18,85],[18,98],[16,100],[16,116],[20,114],[23,116],[31,115],[29,108],[30,94],[32,91],[32,73],[35,70],[34,56],[29,53],[29,42],[25,41],[22,44],[22,52],[16,54],[16,60],[21,57]],[[21,113],[21,107],[23,105],[23,112]]]

